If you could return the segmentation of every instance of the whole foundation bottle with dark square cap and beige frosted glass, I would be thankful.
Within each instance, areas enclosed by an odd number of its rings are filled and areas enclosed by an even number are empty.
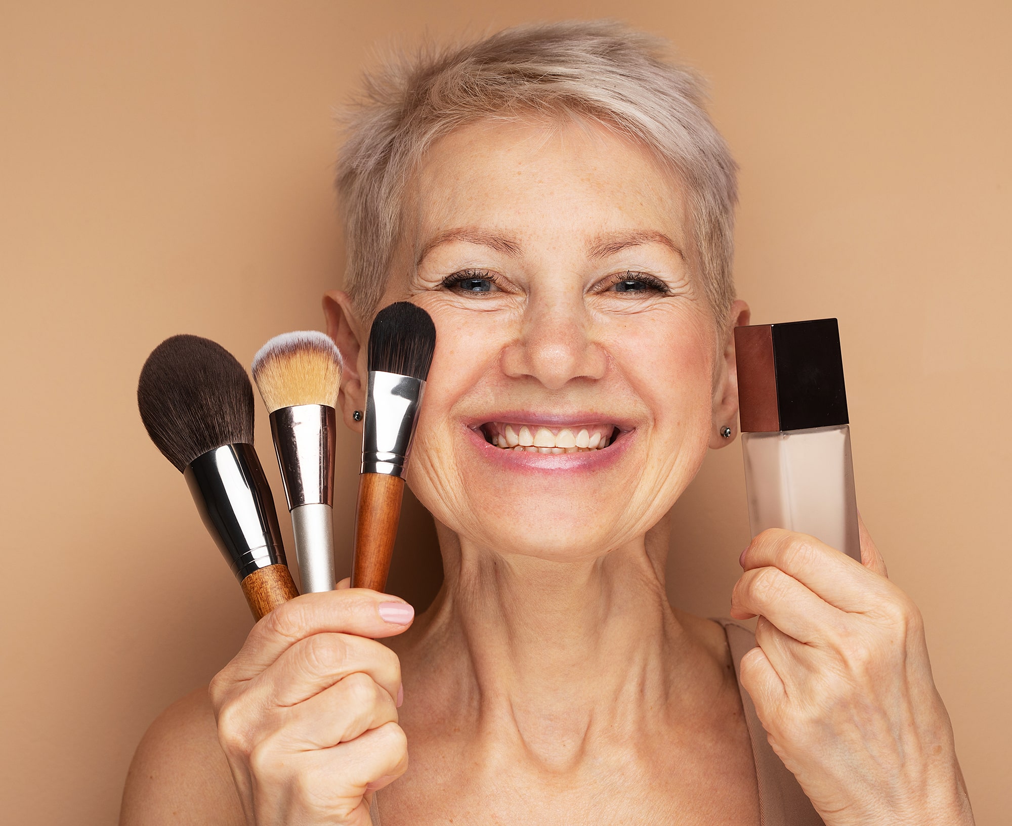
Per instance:
[[[836,319],[735,329],[752,535],[808,533],[860,561]]]

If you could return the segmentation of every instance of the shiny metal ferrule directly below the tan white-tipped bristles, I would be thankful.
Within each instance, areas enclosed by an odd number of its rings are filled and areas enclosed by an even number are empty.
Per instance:
[[[329,405],[293,405],[270,414],[288,510],[334,504],[337,416]]]

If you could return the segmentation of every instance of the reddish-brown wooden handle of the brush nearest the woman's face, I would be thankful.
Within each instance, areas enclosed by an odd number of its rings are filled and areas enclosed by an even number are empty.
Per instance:
[[[387,587],[403,498],[404,480],[399,476],[362,474],[358,477],[352,588],[383,591]]]

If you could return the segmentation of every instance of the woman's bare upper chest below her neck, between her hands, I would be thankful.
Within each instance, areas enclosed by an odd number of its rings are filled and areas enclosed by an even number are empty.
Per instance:
[[[522,744],[467,732],[412,738],[407,773],[380,795],[383,826],[706,824],[758,826],[752,747],[734,711],[683,728],[588,744],[545,767]]]

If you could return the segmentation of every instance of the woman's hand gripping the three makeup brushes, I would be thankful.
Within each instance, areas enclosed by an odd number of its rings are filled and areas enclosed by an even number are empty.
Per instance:
[[[256,826],[368,826],[372,791],[408,767],[401,664],[376,638],[414,608],[361,588],[305,594],[264,616],[210,683],[218,736]]]

